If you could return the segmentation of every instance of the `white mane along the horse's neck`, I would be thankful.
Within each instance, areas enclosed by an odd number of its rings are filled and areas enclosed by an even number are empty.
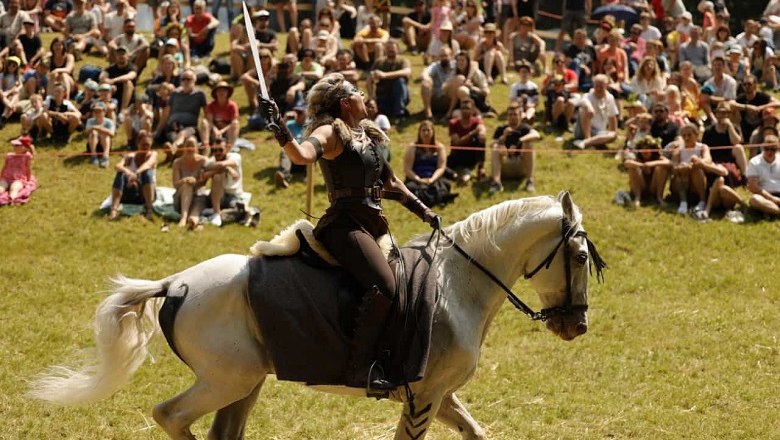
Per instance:
[[[545,215],[556,215],[556,218],[559,218],[560,211],[551,209],[557,207],[560,207],[560,200],[552,196],[507,200],[469,215],[466,219],[445,228],[444,232],[461,244],[478,240],[473,245],[474,250],[480,253],[489,248],[500,250],[494,240],[496,231],[518,218],[531,219]],[[574,217],[575,221],[571,226],[576,229],[582,222],[582,215],[576,206]],[[475,232],[480,232],[480,234],[475,235]],[[430,234],[420,234],[413,237],[407,245],[425,246],[429,238]],[[448,245],[449,243],[443,244]]]

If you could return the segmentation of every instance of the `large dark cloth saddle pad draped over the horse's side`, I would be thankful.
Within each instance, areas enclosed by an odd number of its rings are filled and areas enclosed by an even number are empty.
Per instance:
[[[436,270],[422,249],[401,249],[408,294],[396,300],[380,349],[388,379],[414,382],[428,362],[436,305]],[[257,257],[248,300],[280,380],[344,385],[358,304],[365,293],[341,268],[314,267],[300,256]]]

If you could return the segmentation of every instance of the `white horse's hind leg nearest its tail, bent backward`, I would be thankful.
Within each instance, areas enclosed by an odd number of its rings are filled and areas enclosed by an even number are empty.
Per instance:
[[[256,385],[264,378],[265,375],[251,384],[230,383],[224,380],[212,382],[198,378],[195,385],[187,391],[155,406],[152,415],[172,439],[195,440],[195,436],[190,431],[193,422],[210,412],[245,399],[254,393],[255,389],[259,391]]]

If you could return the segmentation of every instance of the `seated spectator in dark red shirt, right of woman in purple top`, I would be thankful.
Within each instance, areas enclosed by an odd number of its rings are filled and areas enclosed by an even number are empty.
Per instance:
[[[482,180],[485,177],[485,125],[476,116],[472,101],[461,101],[460,116],[449,121],[449,134],[450,145],[455,147],[447,158],[451,174],[459,183],[465,184],[471,180],[476,167],[477,179]]]

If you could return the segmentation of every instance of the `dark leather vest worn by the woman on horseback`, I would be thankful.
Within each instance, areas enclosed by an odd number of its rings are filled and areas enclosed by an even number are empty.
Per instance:
[[[333,160],[320,159],[322,176],[328,193],[341,190],[362,190],[364,188],[381,188],[382,176],[386,172],[385,160],[379,151],[379,145],[372,139],[362,148],[360,141],[350,140],[344,145],[344,151]],[[381,210],[379,199],[371,197],[344,197],[333,201],[333,205],[362,204]]]

